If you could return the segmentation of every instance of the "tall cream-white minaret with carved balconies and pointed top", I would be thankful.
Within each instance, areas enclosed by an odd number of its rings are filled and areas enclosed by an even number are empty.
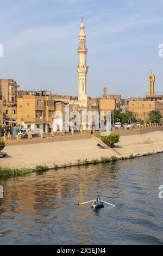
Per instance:
[[[84,33],[84,24],[83,18],[82,23],[80,24],[80,34],[79,34],[79,65],[77,66],[78,72],[78,101],[79,105],[83,107],[87,107],[87,96],[86,96],[86,74],[88,71],[88,66],[86,66],[86,53],[87,48],[85,46],[86,35]]]

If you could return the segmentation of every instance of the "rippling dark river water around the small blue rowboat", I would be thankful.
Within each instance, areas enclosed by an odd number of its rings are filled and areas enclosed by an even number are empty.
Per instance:
[[[163,245],[162,156],[1,179],[0,244]]]

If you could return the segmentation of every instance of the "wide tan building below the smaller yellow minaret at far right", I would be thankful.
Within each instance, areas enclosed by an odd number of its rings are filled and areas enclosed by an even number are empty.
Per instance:
[[[136,119],[147,120],[152,110],[159,110],[163,117],[163,101],[129,101],[129,111],[135,114]]]

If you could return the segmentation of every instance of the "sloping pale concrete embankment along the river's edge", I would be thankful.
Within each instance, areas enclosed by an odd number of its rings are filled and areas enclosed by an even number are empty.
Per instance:
[[[34,168],[37,165],[77,163],[78,160],[101,159],[101,157],[127,157],[131,154],[158,153],[163,151],[163,131],[142,135],[121,136],[116,148],[100,149],[91,138],[27,145],[10,145],[3,150],[9,157],[0,159],[1,167]]]

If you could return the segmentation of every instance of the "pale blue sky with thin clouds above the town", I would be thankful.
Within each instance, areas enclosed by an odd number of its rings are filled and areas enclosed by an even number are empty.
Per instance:
[[[0,78],[20,89],[78,95],[78,35],[84,16],[87,95],[143,96],[147,76],[163,92],[162,0],[0,0]]]

